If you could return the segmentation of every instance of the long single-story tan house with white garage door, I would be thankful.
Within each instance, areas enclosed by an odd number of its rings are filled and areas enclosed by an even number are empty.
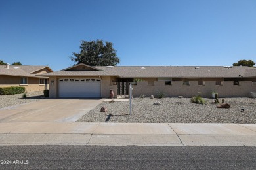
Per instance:
[[[74,65],[61,71],[37,76],[49,77],[50,97],[115,97],[128,95],[133,83],[133,97],[150,97],[163,92],[167,97],[191,97],[201,93],[210,97],[249,97],[256,92],[256,69],[253,67],[178,67],[178,66],[107,66]]]

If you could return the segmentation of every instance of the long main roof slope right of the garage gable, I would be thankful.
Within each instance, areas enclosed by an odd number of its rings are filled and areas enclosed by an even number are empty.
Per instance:
[[[142,67],[96,67],[127,78],[150,78],[150,77],[172,77],[172,78],[234,78],[245,76],[245,71],[256,70],[251,67],[222,67],[222,66],[144,66]]]

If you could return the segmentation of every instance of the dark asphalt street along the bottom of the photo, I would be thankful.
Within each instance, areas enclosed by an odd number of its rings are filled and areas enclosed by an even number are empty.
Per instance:
[[[256,169],[256,147],[0,146],[0,169]]]

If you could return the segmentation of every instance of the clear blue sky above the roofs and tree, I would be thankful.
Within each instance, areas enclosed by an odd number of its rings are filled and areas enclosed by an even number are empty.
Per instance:
[[[256,60],[255,18],[255,0],[1,0],[0,60],[58,71],[103,39],[119,65],[232,65]]]

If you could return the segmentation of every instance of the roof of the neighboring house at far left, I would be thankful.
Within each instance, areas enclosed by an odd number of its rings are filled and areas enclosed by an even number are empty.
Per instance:
[[[0,75],[35,77],[33,72],[39,71],[46,67],[48,66],[10,65],[10,69],[7,69],[6,65],[0,65]]]

